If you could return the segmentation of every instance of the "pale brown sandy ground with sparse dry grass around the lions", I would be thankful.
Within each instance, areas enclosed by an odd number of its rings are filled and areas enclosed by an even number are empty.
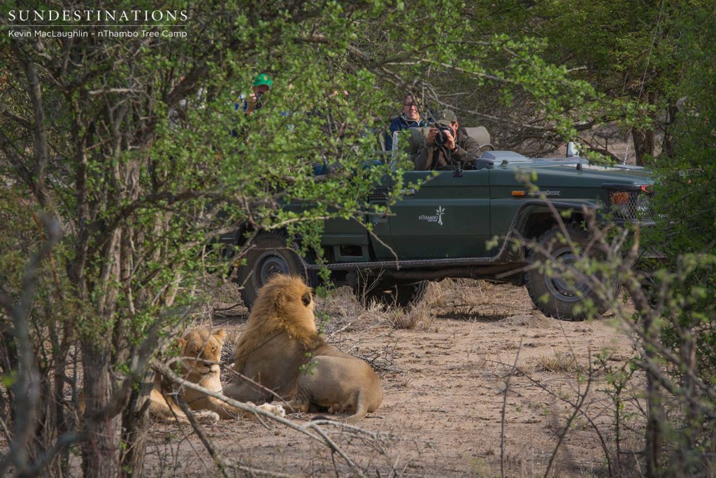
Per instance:
[[[360,429],[321,424],[354,466],[298,431],[246,420],[206,428],[222,457],[296,476],[532,477],[548,466],[551,476],[614,474],[605,458],[605,446],[614,451],[614,405],[604,367],[594,365],[599,354],[607,368],[632,356],[613,317],[553,320],[523,288],[476,281],[431,285],[409,315],[364,310],[346,288],[317,303],[332,317],[329,340],[382,379],[382,406]],[[217,302],[213,314],[229,333],[225,356],[247,316],[227,306]],[[314,416],[289,419],[306,425]],[[218,474],[189,429],[155,424],[150,436],[150,476]]]

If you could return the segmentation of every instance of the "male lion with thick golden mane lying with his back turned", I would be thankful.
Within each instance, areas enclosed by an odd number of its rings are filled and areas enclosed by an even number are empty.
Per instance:
[[[248,380],[237,378],[224,394],[239,401],[276,396],[294,411],[314,404],[353,411],[357,421],[383,399],[370,365],[319,337],[311,288],[297,277],[277,274],[261,288],[235,352],[233,368]]]

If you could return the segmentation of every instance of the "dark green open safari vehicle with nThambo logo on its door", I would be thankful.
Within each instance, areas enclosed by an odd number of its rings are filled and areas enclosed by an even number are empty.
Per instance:
[[[417,151],[426,130],[412,132],[409,153]],[[468,128],[468,133],[485,145],[483,155],[470,168],[405,173],[405,184],[425,183],[402,190],[402,199],[391,207],[393,214],[371,216],[372,234],[356,221],[326,221],[321,247],[332,282],[349,285],[364,301],[399,307],[421,300],[429,281],[468,277],[509,282],[525,286],[546,315],[584,319],[583,307],[578,306],[591,295],[588,284],[569,282],[545,267],[530,267],[545,255],[568,264],[579,259],[561,234],[553,209],[572,211],[564,221],[582,254],[599,254],[588,246],[581,226],[583,207],[609,213],[616,221],[649,221],[653,181],[648,171],[637,166],[592,166],[578,157],[530,159],[492,150],[484,128]],[[536,172],[538,193],[518,179],[520,171]],[[384,204],[392,186],[386,179],[367,201]],[[223,239],[241,243],[243,232]],[[495,236],[497,242],[491,241]],[[513,247],[515,238],[526,239],[523,244],[536,241],[540,247]],[[316,285],[320,266],[286,244],[286,236],[275,231],[254,236],[246,264],[238,271],[248,307],[276,272],[299,274]],[[614,283],[618,287],[618,281]]]

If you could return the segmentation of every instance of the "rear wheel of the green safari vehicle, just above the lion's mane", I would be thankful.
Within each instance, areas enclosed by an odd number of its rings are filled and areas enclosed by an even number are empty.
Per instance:
[[[303,277],[306,284],[316,285],[315,274],[306,271],[299,254],[286,246],[286,236],[277,232],[260,232],[253,239],[253,247],[246,254],[246,265],[238,268],[238,285],[243,303],[251,310],[258,290],[274,274]]]

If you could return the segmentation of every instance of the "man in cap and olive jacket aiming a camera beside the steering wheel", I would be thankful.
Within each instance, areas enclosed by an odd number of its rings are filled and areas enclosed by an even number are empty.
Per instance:
[[[427,143],[423,143],[413,159],[416,171],[444,168],[456,163],[464,165],[480,155],[480,144],[459,129],[458,116],[451,110],[433,115]]]

